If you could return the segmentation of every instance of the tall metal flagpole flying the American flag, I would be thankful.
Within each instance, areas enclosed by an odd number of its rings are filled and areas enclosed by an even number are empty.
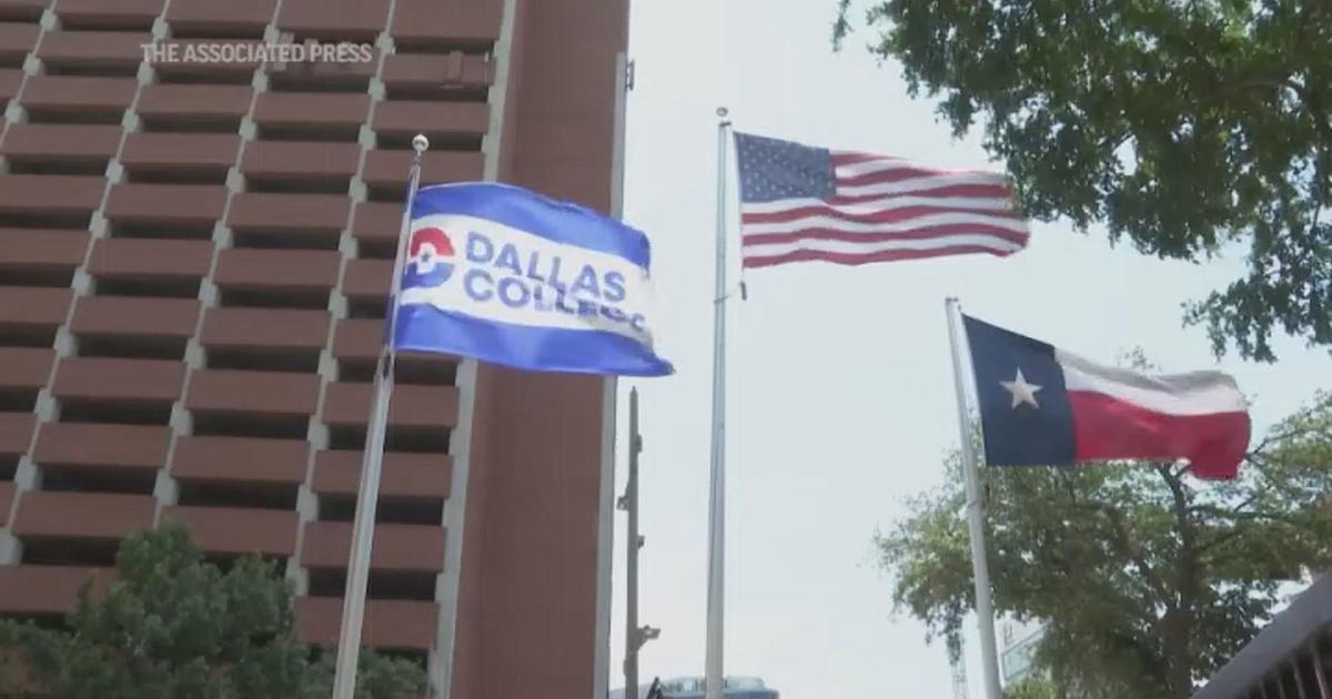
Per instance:
[[[705,699],[722,699],[726,592],[726,140],[731,122],[717,109],[717,290],[713,298],[713,454],[707,502],[707,646]]]

